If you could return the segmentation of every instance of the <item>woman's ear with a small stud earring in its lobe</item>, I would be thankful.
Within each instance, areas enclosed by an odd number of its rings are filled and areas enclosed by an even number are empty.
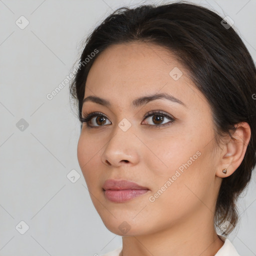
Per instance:
[[[216,176],[224,178],[231,175],[241,164],[250,140],[250,126],[247,122],[239,122],[230,137],[224,139]],[[222,169],[226,168],[226,174]]]

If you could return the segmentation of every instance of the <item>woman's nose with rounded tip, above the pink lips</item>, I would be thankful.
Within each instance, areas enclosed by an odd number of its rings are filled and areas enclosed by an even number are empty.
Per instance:
[[[101,161],[103,164],[112,167],[118,167],[122,164],[137,164],[139,140],[131,128],[123,131],[116,126],[114,131],[102,152]]]

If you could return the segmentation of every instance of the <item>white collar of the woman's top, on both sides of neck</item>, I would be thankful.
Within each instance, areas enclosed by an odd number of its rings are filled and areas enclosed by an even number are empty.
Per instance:
[[[214,256],[240,256],[238,252],[236,251],[233,244],[224,236],[219,235],[220,239],[224,242],[222,247],[217,251],[217,253]],[[112,250],[102,256],[119,256],[119,253],[121,252],[122,246],[116,248],[115,250]]]

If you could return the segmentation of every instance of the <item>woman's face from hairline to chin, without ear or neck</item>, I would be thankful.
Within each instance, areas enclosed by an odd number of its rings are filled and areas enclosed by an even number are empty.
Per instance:
[[[135,101],[156,93],[169,98]],[[88,73],[87,96],[109,101],[83,103],[82,116],[97,113],[82,124],[77,158],[93,205],[111,232],[153,233],[213,207],[212,113],[170,52],[143,42],[109,46]],[[145,189],[104,191],[108,179]]]

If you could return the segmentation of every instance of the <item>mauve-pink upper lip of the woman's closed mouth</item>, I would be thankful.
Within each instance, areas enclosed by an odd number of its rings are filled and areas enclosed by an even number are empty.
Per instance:
[[[141,186],[135,182],[131,182],[125,179],[107,179],[102,187],[104,190],[148,189],[147,187]]]

